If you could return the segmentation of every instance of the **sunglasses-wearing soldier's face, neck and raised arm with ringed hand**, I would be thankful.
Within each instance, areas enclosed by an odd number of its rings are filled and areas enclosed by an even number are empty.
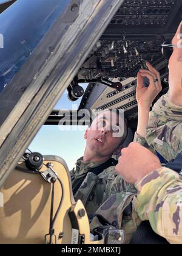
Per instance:
[[[138,73],[138,129],[135,141],[147,144],[166,160],[177,157],[182,151],[182,22],[172,40],[174,51],[169,59],[169,91],[154,105],[150,104],[161,90],[160,74],[149,63],[149,70]],[[150,79],[149,88],[143,88],[142,77]],[[147,143],[146,143],[147,141]],[[148,146],[148,147],[149,147]]]

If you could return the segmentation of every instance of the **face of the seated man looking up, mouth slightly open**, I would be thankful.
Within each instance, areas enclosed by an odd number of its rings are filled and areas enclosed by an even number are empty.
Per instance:
[[[121,132],[123,136],[122,129],[123,118],[116,113],[113,116],[113,113],[107,111],[98,115],[86,131],[87,147],[101,157],[112,155],[122,140],[122,137],[116,137],[116,133]]]

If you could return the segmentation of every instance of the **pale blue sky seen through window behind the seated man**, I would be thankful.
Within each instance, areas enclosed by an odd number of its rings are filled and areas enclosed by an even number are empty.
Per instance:
[[[86,84],[82,86],[87,87]],[[78,109],[80,101],[81,99],[75,102],[69,101],[65,91],[55,109]],[[84,133],[87,127],[73,126],[72,130],[66,130],[66,128],[62,131],[58,126],[42,126],[29,149],[43,155],[58,155],[66,161],[69,169],[73,169],[76,160],[84,154],[86,146]]]

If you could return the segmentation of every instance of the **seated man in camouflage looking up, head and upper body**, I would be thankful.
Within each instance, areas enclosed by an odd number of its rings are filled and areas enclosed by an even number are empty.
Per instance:
[[[115,118],[112,120],[113,115]],[[76,201],[80,199],[83,202],[88,215],[94,214],[110,196],[110,188],[118,176],[115,171],[118,162],[111,157],[121,151],[121,144],[126,138],[127,127],[123,121],[123,117],[108,110],[99,114],[86,130],[86,150],[72,173],[72,188]],[[115,128],[120,130],[121,137],[113,136]],[[118,182],[120,191],[133,189],[120,176]]]

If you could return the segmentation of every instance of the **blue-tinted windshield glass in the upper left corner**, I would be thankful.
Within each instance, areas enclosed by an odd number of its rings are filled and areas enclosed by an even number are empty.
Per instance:
[[[19,0],[1,13],[0,93],[12,81],[69,2],[70,0]]]

